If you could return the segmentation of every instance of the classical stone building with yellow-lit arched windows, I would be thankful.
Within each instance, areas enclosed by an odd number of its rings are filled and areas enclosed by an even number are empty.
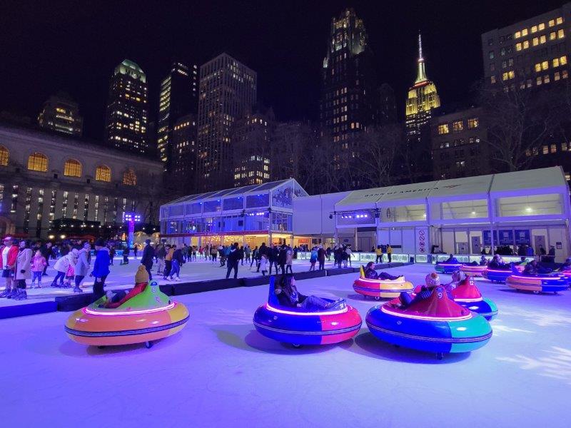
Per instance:
[[[143,156],[0,123],[0,234],[46,238],[70,220],[74,234],[97,236],[125,211],[157,223],[162,171]]]

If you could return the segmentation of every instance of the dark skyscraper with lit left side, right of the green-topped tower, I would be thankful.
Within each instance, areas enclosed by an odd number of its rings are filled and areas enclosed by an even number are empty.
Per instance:
[[[175,61],[168,76],[161,82],[158,104],[157,150],[165,170],[170,171],[176,161],[172,145],[174,124],[182,116],[198,111],[198,67],[185,66]],[[195,119],[196,121],[196,119]],[[193,127],[196,130],[196,127]]]

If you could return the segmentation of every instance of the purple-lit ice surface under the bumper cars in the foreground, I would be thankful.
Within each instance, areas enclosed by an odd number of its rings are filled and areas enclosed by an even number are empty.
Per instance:
[[[418,284],[430,270],[390,271]],[[353,292],[355,275],[297,285],[305,294],[346,297],[364,319],[375,302]],[[339,345],[294,349],[269,340],[252,325],[267,286],[176,297],[191,320],[151,350],[76,344],[63,330],[69,313],[1,320],[2,424],[567,427],[571,292],[478,285],[500,310],[494,336],[481,350],[440,362],[380,342],[364,322]]]

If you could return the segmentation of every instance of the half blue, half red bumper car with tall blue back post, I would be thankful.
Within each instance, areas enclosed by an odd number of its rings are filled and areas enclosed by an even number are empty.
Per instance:
[[[345,302],[334,310],[314,312],[281,306],[274,293],[274,277],[270,280],[268,302],[258,307],[253,318],[262,335],[295,347],[343,342],[358,333],[362,322],[359,312]]]

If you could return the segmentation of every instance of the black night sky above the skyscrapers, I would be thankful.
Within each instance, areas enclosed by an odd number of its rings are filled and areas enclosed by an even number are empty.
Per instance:
[[[168,5],[166,5],[168,4]],[[84,135],[101,139],[113,68],[138,63],[150,116],[171,58],[198,65],[228,52],[258,72],[258,100],[278,120],[315,119],[330,19],[351,6],[365,21],[380,82],[400,116],[423,32],[428,77],[444,106],[482,75],[480,34],[556,9],[562,1],[5,1],[0,0],[0,111],[36,118],[68,91]]]

